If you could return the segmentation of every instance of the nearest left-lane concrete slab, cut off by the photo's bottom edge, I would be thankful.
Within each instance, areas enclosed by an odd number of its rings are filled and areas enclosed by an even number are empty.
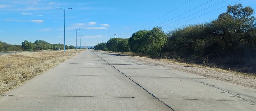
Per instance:
[[[104,97],[1,97],[1,111],[170,111],[157,99]]]

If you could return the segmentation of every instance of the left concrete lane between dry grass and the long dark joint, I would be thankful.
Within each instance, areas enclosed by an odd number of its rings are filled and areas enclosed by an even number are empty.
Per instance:
[[[171,110],[89,50],[2,94],[0,109]]]

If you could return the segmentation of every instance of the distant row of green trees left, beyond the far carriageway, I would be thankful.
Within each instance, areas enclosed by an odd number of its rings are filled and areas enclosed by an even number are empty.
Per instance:
[[[56,50],[56,48],[60,48],[61,50],[64,49],[63,44],[50,44],[44,40],[36,40],[33,42],[28,42],[28,40],[24,40],[21,45],[11,45],[5,42],[0,41],[0,52],[1,51],[32,51],[32,50],[49,50],[53,49]],[[76,47],[70,45],[65,45],[65,49],[76,49]]]

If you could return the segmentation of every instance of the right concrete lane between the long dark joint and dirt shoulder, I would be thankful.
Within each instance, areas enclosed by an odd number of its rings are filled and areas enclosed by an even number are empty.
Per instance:
[[[255,89],[162,66],[116,65],[123,61],[130,64],[145,63],[132,61],[123,55],[93,52],[175,111],[254,111],[256,109]],[[116,61],[113,62],[112,59]]]

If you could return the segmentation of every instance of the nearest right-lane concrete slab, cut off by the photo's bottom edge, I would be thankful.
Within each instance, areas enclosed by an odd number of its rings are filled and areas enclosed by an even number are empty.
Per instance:
[[[160,99],[171,105],[175,111],[254,111],[255,103],[250,101],[180,100]]]

